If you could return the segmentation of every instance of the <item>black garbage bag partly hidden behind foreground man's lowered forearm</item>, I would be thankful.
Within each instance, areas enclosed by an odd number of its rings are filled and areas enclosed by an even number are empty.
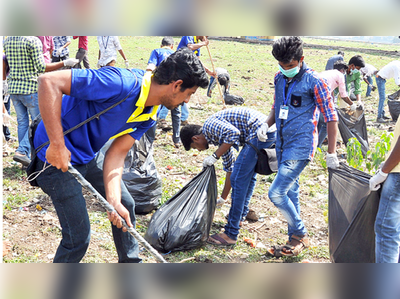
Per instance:
[[[98,155],[104,156],[111,143],[107,142]],[[158,207],[162,181],[153,158],[153,145],[147,134],[136,140],[126,155],[122,180],[135,201],[135,213],[147,214]]]

